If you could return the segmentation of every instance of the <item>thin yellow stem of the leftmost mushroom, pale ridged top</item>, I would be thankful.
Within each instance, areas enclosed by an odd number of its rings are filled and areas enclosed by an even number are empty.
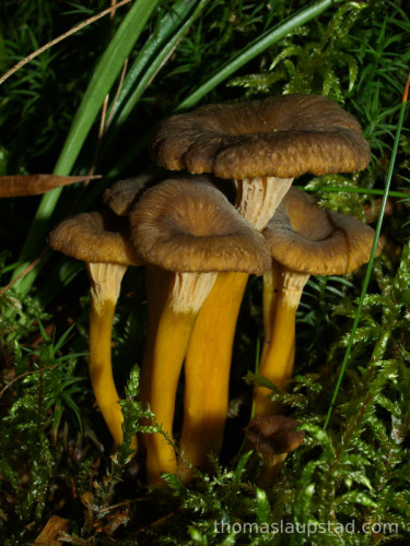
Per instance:
[[[116,302],[127,265],[87,263],[91,280],[90,379],[95,400],[115,444],[122,442],[122,411],[112,368],[112,332]],[[137,450],[137,439],[131,447]]]

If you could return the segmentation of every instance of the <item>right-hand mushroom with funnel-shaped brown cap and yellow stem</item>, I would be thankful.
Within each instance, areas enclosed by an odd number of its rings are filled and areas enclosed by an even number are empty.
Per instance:
[[[320,209],[312,195],[291,188],[262,235],[273,265],[263,275],[265,319],[269,327],[259,373],[286,389],[293,370],[295,314],[309,275],[347,275],[366,263],[374,230],[356,218]],[[380,250],[382,244],[377,252]],[[274,411],[269,393],[267,388],[255,389],[255,415]]]

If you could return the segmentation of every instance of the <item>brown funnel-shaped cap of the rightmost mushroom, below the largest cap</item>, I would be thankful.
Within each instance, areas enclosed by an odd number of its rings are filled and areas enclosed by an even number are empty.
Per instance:
[[[320,209],[291,188],[263,229],[272,258],[309,275],[347,275],[368,262],[374,230],[356,218]],[[377,254],[382,251],[378,244]]]

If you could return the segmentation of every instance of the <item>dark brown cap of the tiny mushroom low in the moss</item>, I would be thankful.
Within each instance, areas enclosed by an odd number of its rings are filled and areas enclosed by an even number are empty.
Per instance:
[[[297,425],[297,420],[284,415],[255,417],[246,428],[246,437],[263,459],[289,453],[305,438],[303,430],[294,430]]]

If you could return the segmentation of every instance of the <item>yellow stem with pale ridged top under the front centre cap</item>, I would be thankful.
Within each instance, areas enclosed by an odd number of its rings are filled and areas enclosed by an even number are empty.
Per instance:
[[[175,397],[179,375],[198,311],[216,273],[175,273],[168,298],[157,320],[155,341],[144,359],[144,396],[155,419],[172,440]],[[147,479],[161,483],[163,472],[177,472],[173,446],[161,434],[145,435]]]

